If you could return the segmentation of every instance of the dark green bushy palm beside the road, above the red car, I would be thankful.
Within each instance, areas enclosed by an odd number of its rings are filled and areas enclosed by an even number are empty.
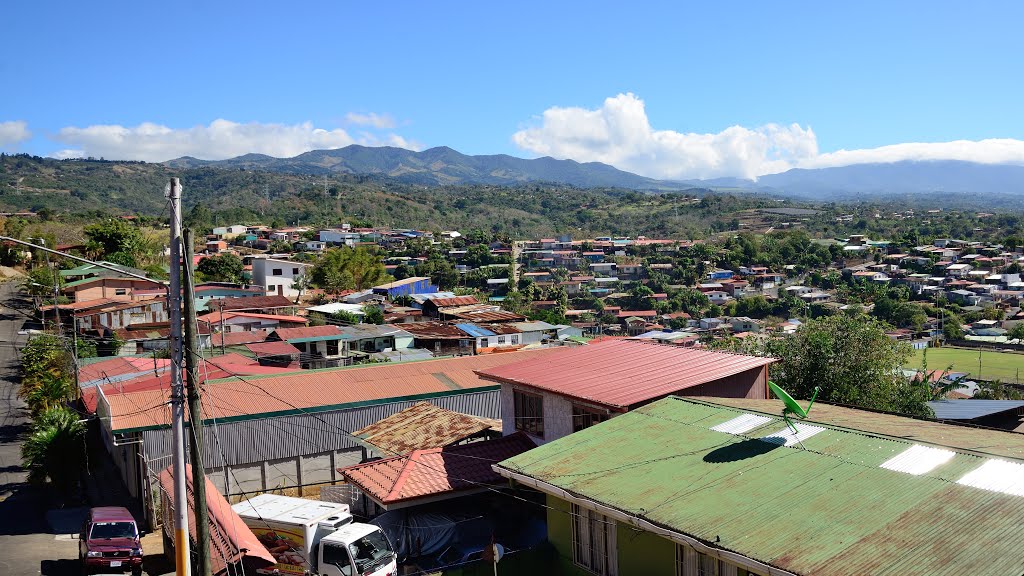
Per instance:
[[[50,408],[39,414],[32,434],[22,445],[22,463],[29,482],[46,484],[68,494],[85,464],[85,425],[68,408]]]

